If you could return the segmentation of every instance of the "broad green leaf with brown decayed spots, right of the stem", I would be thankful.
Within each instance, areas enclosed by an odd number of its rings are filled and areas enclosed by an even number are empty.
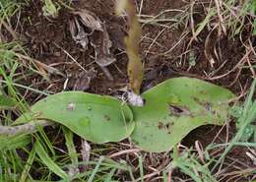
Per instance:
[[[132,106],[136,123],[132,140],[145,151],[164,152],[201,125],[223,125],[228,100],[235,95],[213,84],[184,77],[169,79],[142,96],[145,106]]]

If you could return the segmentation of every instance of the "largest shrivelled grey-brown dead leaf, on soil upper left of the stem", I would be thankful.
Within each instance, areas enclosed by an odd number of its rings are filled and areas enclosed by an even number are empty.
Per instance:
[[[88,49],[89,43],[94,47],[96,63],[101,68],[115,62],[116,59],[110,52],[112,42],[105,24],[93,12],[86,9],[73,12],[73,14],[74,19],[70,21],[73,39],[85,50]]]

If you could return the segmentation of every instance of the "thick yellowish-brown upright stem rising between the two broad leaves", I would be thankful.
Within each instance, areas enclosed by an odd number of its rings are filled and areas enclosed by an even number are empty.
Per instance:
[[[143,65],[139,54],[139,42],[142,35],[142,28],[136,15],[136,7],[132,0],[119,0],[117,3],[117,14],[123,9],[126,10],[130,29],[125,38],[126,53],[129,58],[127,72],[130,80],[130,88],[136,94],[140,94],[143,80]]]

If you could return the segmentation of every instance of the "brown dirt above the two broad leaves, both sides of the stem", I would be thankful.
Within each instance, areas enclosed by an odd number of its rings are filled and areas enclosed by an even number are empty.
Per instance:
[[[182,9],[184,5],[185,4],[181,2],[170,3],[165,0],[159,1],[158,4],[156,4],[156,2],[153,3],[147,1],[144,4],[142,14],[156,16],[163,10]],[[102,94],[113,94],[117,89],[126,86],[127,57],[124,54],[120,54],[119,51],[119,49],[124,48],[122,39],[125,35],[126,23],[124,20],[119,19],[114,15],[114,5],[111,1],[79,1],[79,3],[74,6],[79,7],[79,9],[89,9],[96,13],[102,21],[106,22],[110,39],[114,45],[112,51],[117,58],[116,63],[109,66],[110,72],[114,77],[114,82],[109,82],[102,71],[94,63],[94,59],[92,58],[92,56],[94,56],[94,50],[90,49],[88,51],[83,51],[80,45],[76,44],[72,39],[68,28],[68,21],[72,17],[70,12],[68,10],[62,10],[56,19],[46,19],[42,16],[41,6],[40,1],[32,1],[32,6],[24,9],[22,14],[23,19],[21,20],[20,33],[25,36],[29,54],[33,58],[47,65],[53,65],[59,71],[71,78],[71,82],[68,84],[68,90],[73,89],[74,80],[76,80],[82,70],[77,64],[72,62],[71,58],[67,56],[63,49],[75,58],[85,69],[96,69],[96,80],[93,81],[90,91]],[[174,16],[175,14],[171,13],[170,15]],[[167,14],[165,16],[170,15]],[[194,41],[190,47],[190,49],[194,51],[196,65],[191,67],[191,69],[188,69],[188,55],[183,53],[186,48],[185,45],[188,43],[188,38],[181,41],[170,53],[161,55],[179,41],[180,35],[184,31],[182,30],[184,27],[181,26],[178,30],[163,30],[163,28],[158,26],[145,25],[143,28],[144,38],[141,42],[141,47],[142,57],[146,63],[145,87],[150,84],[148,82],[149,80],[154,79],[154,85],[156,85],[162,80],[177,75],[191,75],[207,80],[205,73],[211,73],[226,61],[223,69],[218,72],[218,75],[222,75],[228,70],[231,70],[244,55],[244,47],[240,41],[237,39],[228,39],[226,36],[220,37],[217,44],[220,45],[219,49],[222,52],[219,52],[219,54],[221,54],[222,59],[217,61],[215,67],[212,68],[204,53],[205,39],[209,34],[208,30],[204,30],[200,34],[198,38],[199,40],[197,42]],[[162,32],[160,33],[160,31]],[[160,35],[158,36],[159,33]],[[152,41],[156,36],[158,36],[156,39],[156,42],[158,43],[152,44]],[[216,38],[216,36],[213,36],[210,39],[213,40]],[[184,54],[183,56],[181,56],[182,53]],[[232,83],[237,75],[237,72],[232,72],[223,79],[218,79],[213,82],[224,87],[229,87],[232,91],[238,94],[240,91],[238,83],[245,83],[250,78],[250,74],[251,73],[248,72],[248,70],[245,70],[240,74],[237,81]],[[64,81],[64,78],[55,78],[53,75],[51,78],[52,83],[50,83],[52,86],[49,91],[61,91],[63,89]],[[36,83],[36,81],[34,82]],[[37,85],[38,89],[45,89],[45,84],[46,83]],[[146,89],[148,89],[148,87]],[[145,90],[145,88],[143,88],[143,90]]]

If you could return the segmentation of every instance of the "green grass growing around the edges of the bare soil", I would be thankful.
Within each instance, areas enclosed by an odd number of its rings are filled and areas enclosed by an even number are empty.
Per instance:
[[[22,10],[24,4],[29,3],[26,1],[21,2],[0,0],[0,22],[4,21],[6,25],[2,26],[1,29],[7,30],[12,28],[11,18]],[[69,5],[69,3],[62,5]],[[140,19],[145,25],[151,24],[165,29],[176,29],[180,25],[188,27],[193,12],[190,11],[191,6],[184,7],[183,10],[178,11],[179,13],[172,18],[165,18],[163,16],[168,11],[173,11],[166,10],[157,16],[140,15]],[[255,16],[255,9],[256,3],[253,0],[248,0],[244,3],[228,0],[223,2],[223,7],[218,15],[216,5],[212,4],[212,8],[207,9],[206,18],[198,25],[188,29],[191,29],[193,36],[196,37],[207,26],[216,23],[216,19],[221,15],[223,17],[222,25],[228,30],[228,36],[235,37],[241,35],[249,25],[252,25],[253,28],[251,33],[255,34],[256,22],[250,18],[251,14]],[[193,13],[196,14],[198,12]],[[223,27],[221,25],[219,27],[224,32]],[[12,37],[16,36],[13,31],[9,33]],[[22,59],[25,58],[24,56],[28,55],[22,42],[16,39],[0,42],[0,96],[5,97],[2,99],[3,102],[0,102],[1,125],[12,125],[14,117],[21,115],[29,109],[29,105],[32,103],[27,102],[26,91],[37,95],[51,93],[49,91],[38,91],[30,84],[23,85],[22,81],[25,77],[30,78],[36,74],[43,78],[43,75],[36,69],[32,58]],[[173,160],[156,172],[156,174],[159,173],[162,181],[168,181],[168,173],[173,170],[179,170],[182,174],[186,175],[186,178],[193,181],[218,181],[220,176],[217,176],[213,169],[222,169],[225,166],[224,159],[233,147],[255,148],[255,141],[253,143],[241,141],[241,138],[245,135],[246,128],[256,118],[256,101],[253,99],[255,85],[256,81],[252,84],[251,90],[241,107],[241,114],[236,119],[238,130],[233,139],[229,143],[210,145],[203,152],[204,162],[200,160],[199,154],[194,149],[182,150],[180,153],[174,150],[169,156]],[[13,108],[14,104],[16,105],[15,108]],[[0,181],[34,181],[34,173],[39,174],[36,177],[37,181],[64,181],[65,179],[71,181],[72,179],[77,179],[77,181],[110,182],[114,180],[122,181],[120,177],[122,175],[126,175],[127,178],[133,181],[146,181],[148,171],[145,170],[145,165],[147,163],[142,155],[135,157],[138,162],[133,165],[130,161],[116,161],[109,158],[107,154],[102,154],[118,148],[118,146],[107,144],[93,149],[90,161],[84,162],[81,161],[81,152],[78,151],[78,144],[74,142],[74,135],[66,128],[60,129],[55,127],[54,131],[58,134],[56,136],[58,139],[55,138],[55,140],[48,138],[47,132],[43,129],[30,136],[20,135],[13,138],[0,136]],[[56,147],[60,139],[63,141],[63,149]],[[32,145],[28,147],[30,143]],[[224,149],[221,156],[214,157],[211,155],[211,151],[221,148]],[[209,167],[213,164],[214,167]],[[73,169],[77,169],[81,165],[86,166],[87,170],[81,173],[71,173]],[[254,172],[250,171],[246,176],[250,174],[254,174]]]

